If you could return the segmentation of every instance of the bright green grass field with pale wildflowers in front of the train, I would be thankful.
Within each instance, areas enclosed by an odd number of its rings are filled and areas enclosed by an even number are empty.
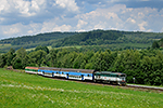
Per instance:
[[[0,69],[0,108],[163,108],[163,93]]]

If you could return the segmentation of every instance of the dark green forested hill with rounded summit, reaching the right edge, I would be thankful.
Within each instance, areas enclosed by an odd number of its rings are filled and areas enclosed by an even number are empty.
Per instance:
[[[92,30],[76,33],[59,40],[53,48],[70,45],[105,45],[105,44],[140,44],[140,49],[151,46],[154,40],[163,38],[163,33],[141,32],[141,31],[120,31],[120,30]]]

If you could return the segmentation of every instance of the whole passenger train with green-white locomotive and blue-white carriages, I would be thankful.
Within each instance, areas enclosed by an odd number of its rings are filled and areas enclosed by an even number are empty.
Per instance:
[[[112,71],[96,71],[93,69],[72,69],[55,67],[25,67],[25,72],[40,75],[43,77],[60,77],[65,79],[93,81],[102,83],[111,83],[126,85],[126,75]]]

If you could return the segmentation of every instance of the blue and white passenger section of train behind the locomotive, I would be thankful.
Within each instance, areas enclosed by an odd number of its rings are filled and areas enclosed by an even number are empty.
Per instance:
[[[74,80],[92,80],[95,70],[39,67],[38,73],[47,77],[63,77]]]

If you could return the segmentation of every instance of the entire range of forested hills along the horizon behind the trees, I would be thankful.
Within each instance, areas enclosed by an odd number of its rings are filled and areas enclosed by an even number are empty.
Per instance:
[[[24,36],[0,40],[0,53],[11,48],[30,49],[37,45],[60,46],[98,46],[104,49],[146,49],[153,41],[163,38],[161,32],[91,30],[85,32],[46,32],[36,36]]]

